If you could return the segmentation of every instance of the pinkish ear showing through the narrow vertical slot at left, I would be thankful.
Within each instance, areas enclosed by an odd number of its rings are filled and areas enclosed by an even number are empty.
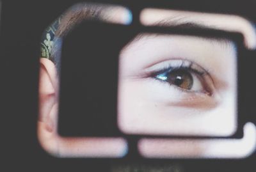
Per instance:
[[[40,58],[38,139],[50,153],[58,152],[58,76],[51,60]]]

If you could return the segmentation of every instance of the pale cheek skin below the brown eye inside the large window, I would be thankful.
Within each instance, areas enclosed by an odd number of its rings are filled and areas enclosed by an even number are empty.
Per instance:
[[[168,88],[172,91],[168,93],[164,87],[160,89],[157,84],[154,86],[149,83],[142,80],[120,79],[118,127],[122,132],[126,134],[227,136],[236,129],[234,94],[227,93],[225,98],[211,108],[204,107],[208,104],[204,100],[195,100],[196,106],[188,106],[182,101],[180,104],[172,104],[170,100],[175,102],[179,99],[179,95],[182,97],[182,93],[172,90],[170,86]]]

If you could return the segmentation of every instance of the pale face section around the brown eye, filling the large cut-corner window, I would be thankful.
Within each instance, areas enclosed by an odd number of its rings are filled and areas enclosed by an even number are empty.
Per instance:
[[[128,134],[232,134],[236,61],[230,40],[141,33],[120,53],[120,129]]]

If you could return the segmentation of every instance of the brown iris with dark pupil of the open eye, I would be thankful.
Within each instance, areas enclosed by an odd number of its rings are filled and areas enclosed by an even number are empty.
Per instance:
[[[166,82],[180,88],[191,90],[193,86],[193,77],[186,70],[174,70],[166,75]]]

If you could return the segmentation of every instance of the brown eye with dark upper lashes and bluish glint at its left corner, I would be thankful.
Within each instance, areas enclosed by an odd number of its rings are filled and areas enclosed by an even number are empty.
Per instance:
[[[171,64],[172,65],[172,64]],[[167,69],[152,75],[154,79],[167,82],[182,91],[193,91],[211,95],[211,80],[207,72],[200,66],[189,63],[182,63],[180,66],[169,66]]]

